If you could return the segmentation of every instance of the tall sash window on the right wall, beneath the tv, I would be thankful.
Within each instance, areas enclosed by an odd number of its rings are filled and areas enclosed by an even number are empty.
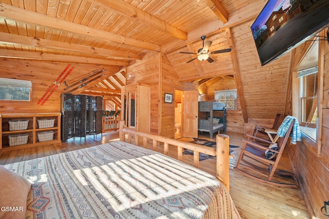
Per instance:
[[[318,67],[298,71],[300,122],[306,127],[317,124]]]

